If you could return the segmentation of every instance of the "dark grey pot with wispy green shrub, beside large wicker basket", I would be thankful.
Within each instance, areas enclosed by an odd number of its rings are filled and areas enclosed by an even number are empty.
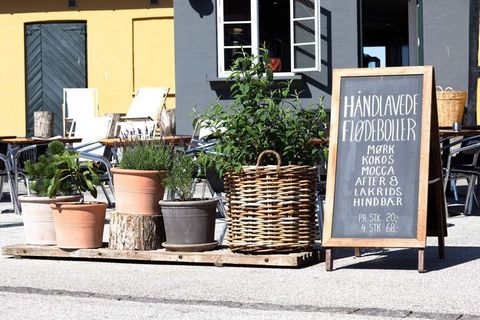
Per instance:
[[[167,250],[205,251],[215,248],[215,214],[217,199],[193,198],[192,157],[183,153],[174,156],[165,178],[165,185],[176,195],[174,200],[159,202],[165,226]]]

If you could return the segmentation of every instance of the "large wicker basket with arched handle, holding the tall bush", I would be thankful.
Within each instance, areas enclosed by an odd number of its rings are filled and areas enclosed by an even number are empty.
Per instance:
[[[266,154],[278,164],[260,166]],[[234,252],[311,250],[315,240],[316,168],[281,166],[264,151],[256,166],[225,175],[228,244]]]

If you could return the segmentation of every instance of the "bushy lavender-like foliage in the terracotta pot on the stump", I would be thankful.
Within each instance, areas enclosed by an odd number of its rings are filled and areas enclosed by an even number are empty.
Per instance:
[[[161,141],[138,140],[123,150],[121,169],[167,170],[173,156],[173,147]]]

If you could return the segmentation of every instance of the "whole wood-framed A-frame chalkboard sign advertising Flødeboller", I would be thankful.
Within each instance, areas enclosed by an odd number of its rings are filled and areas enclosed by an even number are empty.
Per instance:
[[[433,67],[338,69],[333,73],[322,246],[417,248],[444,256],[446,207]]]

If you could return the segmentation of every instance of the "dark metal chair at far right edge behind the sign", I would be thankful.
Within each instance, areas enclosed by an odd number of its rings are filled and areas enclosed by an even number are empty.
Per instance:
[[[480,155],[479,138],[479,136],[468,137],[442,148],[444,152],[448,151],[444,166],[444,191],[447,190],[447,185],[450,182],[454,198],[458,201],[456,181],[458,179],[467,180],[468,187],[465,196],[464,215],[471,214],[474,203],[479,207],[477,192],[475,191],[475,185],[478,183],[480,177],[480,167],[478,167],[478,157]],[[449,206],[453,205],[455,204],[449,204]]]

